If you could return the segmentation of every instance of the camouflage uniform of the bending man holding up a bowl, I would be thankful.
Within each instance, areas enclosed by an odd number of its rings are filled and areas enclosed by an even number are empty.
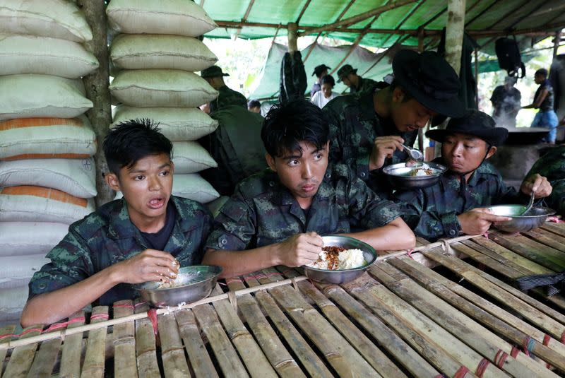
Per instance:
[[[372,93],[340,96],[331,100],[322,111],[330,123],[330,161],[350,167],[381,198],[391,196],[393,188],[382,170],[369,172],[373,141],[377,136],[398,135],[404,138],[407,146],[413,146],[417,131],[402,134],[391,120],[379,117],[374,110]],[[405,151],[396,150],[384,166],[406,159]]]

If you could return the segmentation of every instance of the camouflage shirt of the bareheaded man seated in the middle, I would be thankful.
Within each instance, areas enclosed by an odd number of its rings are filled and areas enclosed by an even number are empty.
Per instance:
[[[242,250],[283,242],[315,231],[319,235],[376,228],[400,216],[398,206],[379,199],[343,165],[328,168],[307,211],[268,170],[239,183],[214,220],[211,249]]]

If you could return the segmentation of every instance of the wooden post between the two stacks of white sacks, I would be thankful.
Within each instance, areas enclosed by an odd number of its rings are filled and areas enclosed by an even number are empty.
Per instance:
[[[96,134],[98,146],[94,156],[96,164],[96,205],[102,206],[104,203],[114,199],[114,192],[108,187],[103,177],[104,172],[108,172],[108,165],[102,151],[102,141],[108,134],[109,124],[112,123],[112,109],[110,108],[109,85],[109,57],[108,40],[106,35],[107,22],[104,1],[78,0],[77,5],[83,9],[88,21],[88,25],[93,30],[93,39],[85,42],[86,49],[92,52],[100,68],[83,78],[86,88],[86,97],[94,104],[94,107],[86,116],[92,124]]]

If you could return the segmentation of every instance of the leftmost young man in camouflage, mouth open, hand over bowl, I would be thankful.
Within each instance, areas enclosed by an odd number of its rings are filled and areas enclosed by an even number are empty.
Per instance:
[[[149,121],[109,131],[109,186],[124,194],[73,223],[49,264],[30,281],[21,324],[49,324],[97,302],[132,299],[131,283],[169,282],[198,264],[212,217],[200,203],[171,195],[172,143]]]

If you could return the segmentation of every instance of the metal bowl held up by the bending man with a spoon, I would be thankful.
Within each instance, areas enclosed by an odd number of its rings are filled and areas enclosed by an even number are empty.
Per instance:
[[[420,167],[422,163],[415,163],[410,167],[406,163],[398,163],[388,165],[383,168],[383,173],[388,176],[389,181],[396,189],[420,189],[429,187],[439,181],[439,178],[444,175],[447,167],[444,165],[427,162],[430,168],[437,171],[434,175],[428,176],[410,176],[410,172],[415,168]]]

